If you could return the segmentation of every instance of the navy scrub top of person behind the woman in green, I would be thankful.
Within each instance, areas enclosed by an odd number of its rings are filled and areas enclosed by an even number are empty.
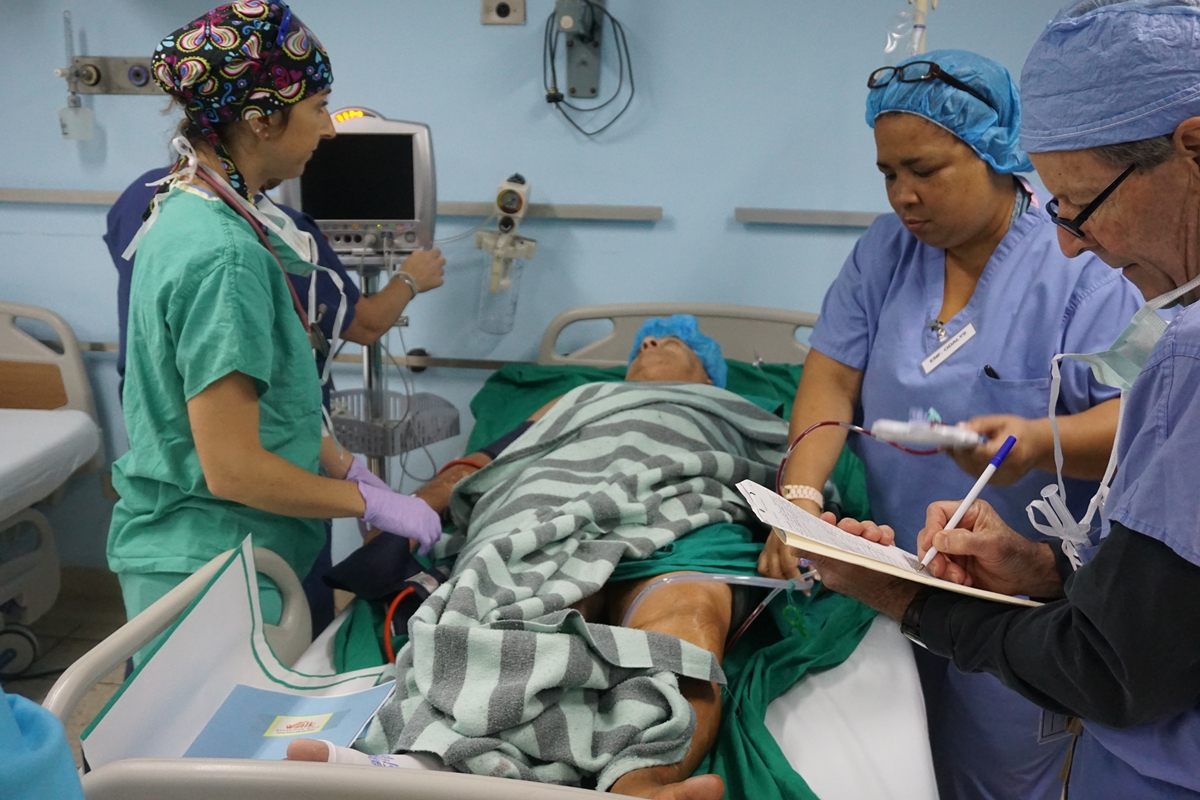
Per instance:
[[[108,245],[108,252],[113,257],[113,264],[116,265],[116,314],[118,323],[120,327],[120,345],[116,354],[116,373],[121,377],[121,389],[125,387],[125,331],[128,326],[130,318],[130,285],[133,279],[133,261],[121,258],[121,253],[130,246],[133,241],[133,236],[137,235],[138,229],[142,228],[143,215],[146,207],[150,205],[150,198],[154,197],[157,187],[146,186],[154,181],[161,180],[170,174],[169,168],[151,169],[145,173],[136,181],[130,184],[121,197],[116,199],[113,207],[108,210],[108,231],[104,234],[104,243]],[[346,319],[342,323],[342,330],[344,331],[350,326],[354,320],[354,307],[359,301],[359,288],[350,279],[350,276],[346,272],[342,266],[342,261],[337,258],[337,253],[334,248],[329,246],[329,240],[325,239],[325,234],[320,231],[317,223],[307,213],[296,211],[295,209],[288,207],[286,205],[278,206],[284,213],[292,217],[296,227],[300,230],[305,230],[312,234],[312,237],[317,241],[317,249],[319,252],[319,258],[317,263],[328,270],[337,272],[342,278],[342,284],[346,290]],[[337,315],[337,306],[341,302],[341,294],[337,287],[334,285],[332,278],[330,278],[324,272],[314,273],[317,275],[317,306],[318,308],[324,305],[326,311],[324,315],[318,320],[320,330],[325,332],[325,338],[334,337],[334,319]],[[305,303],[307,309],[308,303],[308,277],[300,277],[298,275],[288,275],[288,279],[295,288],[296,294],[300,295],[300,300]],[[324,359],[317,362],[318,372],[324,371],[325,362]],[[322,398],[325,407],[329,407],[329,384],[322,386]]]

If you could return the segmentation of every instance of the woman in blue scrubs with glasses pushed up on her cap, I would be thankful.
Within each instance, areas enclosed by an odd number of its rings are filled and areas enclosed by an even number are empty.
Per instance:
[[[926,506],[965,497],[1013,434],[1018,444],[983,497],[1040,539],[1025,507],[1054,480],[1050,359],[1106,345],[1140,297],[1098,259],[1063,257],[1045,198],[1016,178],[1032,166],[1018,146],[1020,102],[1004,67],[940,50],[878,70],[870,85],[866,122],[895,213],[868,229],[826,295],[792,435],[821,421],[869,427],[930,408],[985,434],[988,444],[956,456],[958,465],[851,440],[875,519],[916,552]],[[1116,396],[1084,365],[1063,365],[1057,414],[1076,516],[1112,447]],[[785,497],[820,513],[845,440],[840,427],[805,438],[788,462]],[[794,577],[796,551],[772,537],[760,571]],[[918,664],[942,796],[1058,798],[1066,742],[1039,744],[1037,706],[991,675],[925,654]]]

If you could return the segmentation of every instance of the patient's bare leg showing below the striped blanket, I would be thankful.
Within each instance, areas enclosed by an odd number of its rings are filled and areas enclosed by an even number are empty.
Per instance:
[[[619,625],[629,606],[649,583],[661,578],[623,581],[605,587],[610,621]],[[658,631],[724,656],[725,638],[730,632],[732,594],[724,583],[667,584],[653,591],[634,614],[630,627]],[[680,678],[679,688],[696,712],[696,733],[688,754],[678,764],[648,766],[617,778],[610,792],[660,800],[720,800],[725,783],[715,775],[688,778],[701,759],[708,754],[721,722],[721,691],[718,684]]]

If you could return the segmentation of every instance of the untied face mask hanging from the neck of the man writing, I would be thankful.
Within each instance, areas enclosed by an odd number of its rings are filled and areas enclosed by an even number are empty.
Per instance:
[[[1142,367],[1146,366],[1146,361],[1150,360],[1150,354],[1158,339],[1166,332],[1168,321],[1158,315],[1158,311],[1196,287],[1200,287],[1200,277],[1146,302],[1138,309],[1138,313],[1133,315],[1133,319],[1108,350],[1102,353],[1064,353],[1056,355],[1050,362],[1050,428],[1054,432],[1054,463],[1058,482],[1042,489],[1042,499],[1026,506],[1025,512],[1036,530],[1062,540],[1063,553],[1075,569],[1079,569],[1081,564],[1080,551],[1091,543],[1088,535],[1092,529],[1092,519],[1098,512],[1104,512],[1104,504],[1109,497],[1109,485],[1116,474],[1117,446],[1121,443],[1126,395],[1133,387]],[[1063,359],[1086,363],[1091,367],[1097,381],[1121,390],[1121,399],[1118,401],[1121,405],[1117,411],[1117,429],[1112,440],[1112,452],[1109,455],[1109,463],[1104,469],[1104,477],[1100,479],[1100,486],[1087,504],[1084,518],[1078,522],[1067,507],[1067,487],[1062,480],[1062,439],[1058,435],[1058,420],[1055,415],[1058,405],[1058,392],[1062,389],[1060,365]],[[1039,512],[1046,522],[1039,523],[1034,512]]]

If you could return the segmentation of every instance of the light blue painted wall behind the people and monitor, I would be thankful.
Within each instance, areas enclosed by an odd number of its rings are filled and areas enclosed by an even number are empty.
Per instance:
[[[960,47],[1013,70],[1055,0],[943,0],[931,47]],[[166,163],[176,115],[150,97],[95,97],[96,137],[65,142],[61,11],[70,6],[91,55],[152,52],[203,13],[205,0],[7,0],[0,7],[0,186],[120,190]],[[522,278],[514,331],[474,327],[485,258],[448,246],[446,285],[412,307],[408,347],[436,355],[533,359],[546,323],[578,305],[679,300],[816,311],[856,231],[748,227],[734,206],[886,210],[863,121],[865,79],[887,62],[884,29],[900,0],[608,0],[629,34],[637,96],[588,140],[542,100],[542,23],[552,0],[528,0],[529,22],[484,26],[478,0],[296,0],[331,54],[332,104],[365,104],[433,130],[443,200],[486,200],[521,172],[541,203],[661,205],[659,223],[527,221],[538,255]],[[607,37],[611,44],[611,37]],[[614,64],[607,50],[606,67]],[[613,74],[606,71],[602,91]],[[116,273],[101,241],[101,207],[0,204],[0,297],[60,313],[82,339],[116,339]],[[469,221],[442,219],[438,235]],[[398,341],[392,342],[400,350]],[[114,359],[89,363],[109,457],[125,449]],[[338,375],[342,386],[356,379]],[[484,379],[433,369],[418,389],[470,416]],[[464,437],[432,447],[437,461]],[[428,474],[424,455],[410,468]],[[415,486],[406,481],[404,487]],[[77,479],[50,510],[68,564],[103,564],[109,503],[97,476]],[[344,545],[342,546],[344,549]]]

